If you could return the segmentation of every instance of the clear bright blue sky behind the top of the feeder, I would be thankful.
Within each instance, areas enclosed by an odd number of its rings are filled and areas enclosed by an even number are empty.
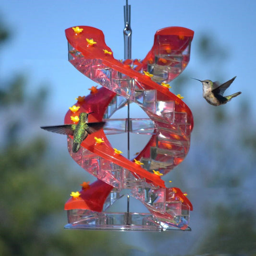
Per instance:
[[[132,58],[146,56],[158,29],[184,26],[195,31],[191,61],[184,73],[193,71],[196,78],[215,80],[207,69],[210,63],[207,65],[196,58],[194,48],[200,35],[210,34],[230,54],[224,67],[225,81],[237,75],[230,92],[241,90],[243,94],[239,97],[251,100],[255,97],[252,80],[256,59],[255,1],[129,0],[129,4],[132,7]],[[2,1],[2,21],[11,32],[11,40],[1,52],[2,74],[10,77],[26,73],[32,91],[41,83],[49,83],[51,107],[60,114],[59,120],[63,120],[74,98],[87,95],[87,89],[93,85],[68,62],[64,30],[75,25],[97,27],[105,34],[114,57],[123,59],[123,5],[125,0]],[[202,88],[195,81],[188,81],[186,86],[196,88],[195,97],[204,100]],[[238,101],[232,104],[235,106]]]

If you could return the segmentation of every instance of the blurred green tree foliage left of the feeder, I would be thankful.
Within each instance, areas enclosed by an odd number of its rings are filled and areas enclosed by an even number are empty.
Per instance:
[[[0,27],[1,44],[8,34]],[[23,75],[0,81],[0,255],[126,255],[130,248],[109,232],[63,229],[68,165],[47,154],[45,138],[31,135],[46,96],[45,88],[28,95]]]

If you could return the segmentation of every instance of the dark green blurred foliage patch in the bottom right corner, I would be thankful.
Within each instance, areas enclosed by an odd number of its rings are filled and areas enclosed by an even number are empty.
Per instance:
[[[212,218],[216,225],[200,244],[198,254],[256,254],[255,213],[252,209],[235,204],[217,205]]]

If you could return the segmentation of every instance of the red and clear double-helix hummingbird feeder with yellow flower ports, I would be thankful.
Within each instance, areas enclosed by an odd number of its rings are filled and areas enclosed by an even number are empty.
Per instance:
[[[156,32],[152,49],[144,60],[131,59],[130,5],[124,6],[124,61],[116,60],[101,30],[76,26],[65,30],[70,63],[102,87],[93,86],[86,97],[67,111],[64,123],[73,124],[82,112],[88,122],[105,122],[103,129],[88,134],[74,153],[73,136],[68,135],[71,157],[97,178],[82,183],[65,204],[67,229],[166,231],[190,230],[193,210],[186,195],[177,187],[166,187],[162,177],[183,161],[189,151],[193,115],[169,83],[183,72],[190,59],[194,32],[184,27],[166,27]],[[135,103],[148,118],[133,119],[129,104]],[[128,107],[128,116],[111,119]],[[128,134],[128,157],[113,148],[106,134]],[[129,134],[150,134],[151,138],[136,158],[130,160]],[[110,212],[129,189],[127,211]],[[130,212],[130,195],[148,212]]]

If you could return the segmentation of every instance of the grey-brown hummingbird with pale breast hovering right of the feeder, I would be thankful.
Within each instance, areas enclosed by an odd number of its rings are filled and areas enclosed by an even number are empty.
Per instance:
[[[242,92],[236,92],[229,96],[223,96],[224,91],[232,84],[236,76],[227,81],[226,83],[219,85],[219,82],[212,82],[211,80],[199,80],[203,84],[203,97],[207,102],[213,106],[219,106],[226,104],[232,98],[240,95]]]

